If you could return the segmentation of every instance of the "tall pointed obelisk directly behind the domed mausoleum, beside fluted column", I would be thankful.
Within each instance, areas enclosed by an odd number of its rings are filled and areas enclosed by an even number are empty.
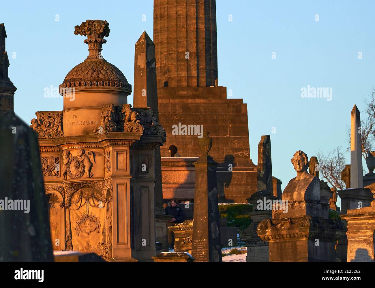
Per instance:
[[[141,37],[139,37],[138,41],[135,43],[133,106],[135,108],[153,108],[155,110],[154,115],[159,119],[155,45],[146,31],[142,33]],[[156,214],[163,214],[160,146],[156,148],[154,153],[154,173],[156,179],[155,212]]]

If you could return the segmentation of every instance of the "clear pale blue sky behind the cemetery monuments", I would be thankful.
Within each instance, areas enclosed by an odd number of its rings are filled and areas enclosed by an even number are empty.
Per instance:
[[[73,33],[75,25],[86,19],[110,23],[103,55],[129,83],[136,40],[144,30],[153,36],[152,0],[3,1],[1,6],[9,76],[18,88],[15,112],[27,123],[35,111],[63,108],[62,98],[43,94],[45,87],[62,83],[88,54],[85,37]],[[365,109],[363,97],[375,85],[375,3],[217,0],[216,6],[219,85],[248,104],[254,163],[261,135],[271,135],[273,175],[284,189],[296,175],[290,162],[295,151],[311,157],[319,149],[348,145],[350,111],[354,104]],[[358,59],[359,52],[363,59]],[[301,88],[307,85],[332,87],[332,101],[302,98]],[[347,159],[349,163],[349,153]]]

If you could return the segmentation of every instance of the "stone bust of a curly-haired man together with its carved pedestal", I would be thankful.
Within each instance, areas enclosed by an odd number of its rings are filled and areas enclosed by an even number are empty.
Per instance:
[[[291,162],[297,177],[282,194],[288,209],[274,205],[272,220],[258,224],[258,236],[269,242],[270,262],[334,262],[336,240],[345,235],[344,224],[329,219],[329,203],[321,199],[319,178],[307,172],[306,153],[297,151]]]

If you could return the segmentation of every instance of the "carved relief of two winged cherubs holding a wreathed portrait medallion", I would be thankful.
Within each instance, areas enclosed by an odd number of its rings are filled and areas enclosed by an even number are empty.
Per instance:
[[[95,154],[92,151],[87,151],[86,154],[86,150],[80,149],[77,156],[72,156],[70,151],[63,151],[63,159],[62,173],[64,180],[66,180],[66,175],[71,179],[91,178],[94,175],[91,172],[93,163],[95,163]]]

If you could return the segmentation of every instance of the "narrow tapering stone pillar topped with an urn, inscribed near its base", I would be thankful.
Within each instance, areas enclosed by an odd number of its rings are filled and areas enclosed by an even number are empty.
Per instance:
[[[216,165],[208,152],[212,139],[208,132],[199,139],[201,153],[195,165],[194,223],[192,256],[196,262],[221,262],[219,206]]]

